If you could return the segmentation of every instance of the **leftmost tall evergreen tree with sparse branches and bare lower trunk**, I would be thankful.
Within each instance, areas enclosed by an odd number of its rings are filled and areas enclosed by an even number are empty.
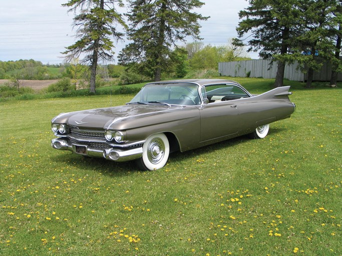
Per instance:
[[[76,36],[79,38],[62,53],[66,54],[67,61],[81,57],[81,63],[90,63],[90,91],[95,93],[98,60],[113,58],[111,38],[119,40],[123,36],[116,25],[126,26],[116,9],[123,6],[122,0],[69,0],[62,5],[75,12],[74,27],[77,27]]]

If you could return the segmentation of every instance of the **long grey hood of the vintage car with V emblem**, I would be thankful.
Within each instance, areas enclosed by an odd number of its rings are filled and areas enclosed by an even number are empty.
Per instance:
[[[116,107],[96,108],[69,113],[61,113],[52,119],[52,122],[68,123],[78,127],[92,128],[127,128],[119,127],[123,121],[156,116],[161,113],[174,112],[183,106],[167,106],[162,104],[128,104]],[[158,117],[156,117],[158,118]]]

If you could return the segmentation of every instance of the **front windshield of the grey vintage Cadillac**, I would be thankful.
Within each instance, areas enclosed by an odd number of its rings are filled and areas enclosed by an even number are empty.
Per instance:
[[[199,105],[198,85],[193,83],[149,83],[129,103]]]

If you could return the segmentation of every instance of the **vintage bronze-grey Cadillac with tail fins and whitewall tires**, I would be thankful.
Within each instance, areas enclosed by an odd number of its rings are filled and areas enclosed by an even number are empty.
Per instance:
[[[267,135],[269,123],[294,109],[289,86],[259,95],[222,79],[147,83],[126,105],[61,113],[52,119],[52,147],[113,161],[137,159],[163,167],[172,151],[190,150],[250,134]]]

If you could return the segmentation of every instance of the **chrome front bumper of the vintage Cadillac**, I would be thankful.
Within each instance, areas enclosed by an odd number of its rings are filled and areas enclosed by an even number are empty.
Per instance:
[[[71,143],[66,138],[54,138],[51,141],[53,148],[60,150],[69,150],[77,154],[87,155],[91,157],[102,157],[112,161],[130,161],[138,159],[143,155],[142,146],[134,148],[93,148],[85,144]]]

